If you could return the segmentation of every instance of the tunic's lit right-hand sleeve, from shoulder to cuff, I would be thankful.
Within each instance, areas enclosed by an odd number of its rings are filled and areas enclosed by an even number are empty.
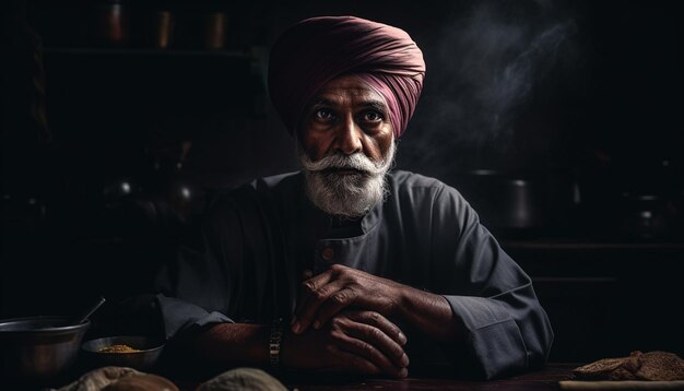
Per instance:
[[[445,186],[433,212],[434,233],[458,233],[455,245],[437,253],[453,260],[438,268],[450,276],[443,296],[465,330],[459,362],[485,379],[542,366],[554,335],[530,277],[458,191]]]

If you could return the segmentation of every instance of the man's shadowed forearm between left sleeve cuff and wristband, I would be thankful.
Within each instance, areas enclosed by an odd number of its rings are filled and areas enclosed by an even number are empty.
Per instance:
[[[196,356],[222,367],[266,366],[269,363],[269,327],[217,323],[193,333],[187,341]]]

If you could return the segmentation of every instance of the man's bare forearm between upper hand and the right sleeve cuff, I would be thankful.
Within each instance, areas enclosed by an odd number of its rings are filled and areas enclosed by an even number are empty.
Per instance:
[[[463,327],[444,296],[403,285],[398,313],[403,321],[440,342],[460,342]]]

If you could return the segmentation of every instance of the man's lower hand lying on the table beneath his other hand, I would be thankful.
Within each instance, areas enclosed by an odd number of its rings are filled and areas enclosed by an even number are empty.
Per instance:
[[[388,375],[404,378],[409,357],[401,330],[375,311],[345,310],[319,329],[283,339],[283,366],[319,370]]]

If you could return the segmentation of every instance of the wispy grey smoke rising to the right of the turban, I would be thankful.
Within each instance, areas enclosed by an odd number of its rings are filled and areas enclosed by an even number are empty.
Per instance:
[[[575,56],[577,25],[557,4],[482,1],[456,11],[424,50],[426,88],[412,123],[420,134],[399,156],[434,166],[440,155],[472,168],[506,154],[535,88]]]

